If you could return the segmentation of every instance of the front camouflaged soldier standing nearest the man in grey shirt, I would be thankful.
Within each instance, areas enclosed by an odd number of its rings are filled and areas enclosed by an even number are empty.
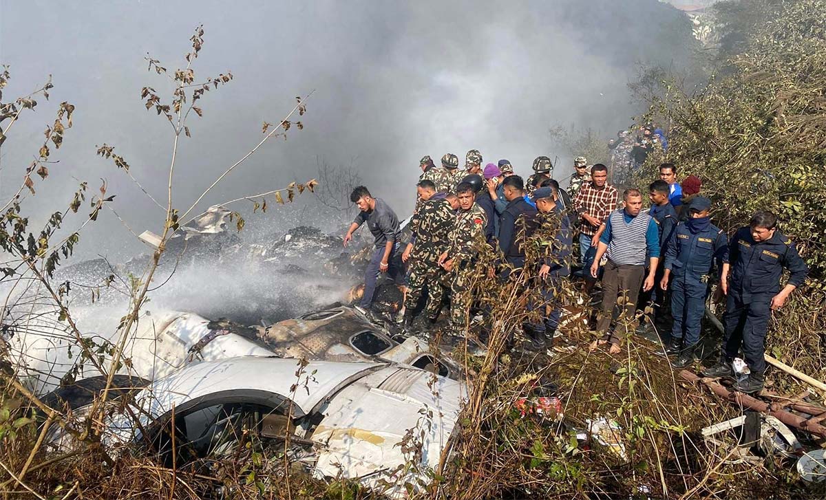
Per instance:
[[[417,187],[421,205],[411,219],[413,238],[407,244],[401,260],[408,263],[407,296],[404,324],[411,327],[413,310],[427,288],[426,318],[433,323],[442,304],[443,290],[439,283],[443,274],[439,256],[448,248],[451,229],[456,220],[453,207],[444,192],[436,192],[434,182],[424,179]]]

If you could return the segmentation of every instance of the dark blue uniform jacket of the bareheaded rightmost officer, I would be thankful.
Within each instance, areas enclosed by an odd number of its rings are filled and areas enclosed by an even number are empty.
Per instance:
[[[730,290],[744,301],[752,295],[776,295],[784,268],[790,272],[789,285],[803,285],[809,274],[809,267],[800,258],[795,243],[780,231],[775,231],[767,241],[757,243],[750,228],[738,229],[729,245],[729,262]]]

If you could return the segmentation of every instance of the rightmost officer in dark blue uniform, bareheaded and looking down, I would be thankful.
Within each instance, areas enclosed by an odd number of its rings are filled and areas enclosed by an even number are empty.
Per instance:
[[[771,311],[780,309],[786,299],[806,279],[809,268],[789,238],[777,230],[777,216],[758,211],[748,227],[738,229],[729,246],[732,267],[731,283],[727,280],[729,265],[724,265],[720,286],[728,295],[724,316],[725,333],[720,361],[703,371],[707,377],[733,376],[731,362],[741,345],[743,357],[751,372],[748,378],[734,384],[743,393],[756,393],[763,388],[766,361],[766,330]],[[789,271],[789,281],[781,290],[783,270]]]

